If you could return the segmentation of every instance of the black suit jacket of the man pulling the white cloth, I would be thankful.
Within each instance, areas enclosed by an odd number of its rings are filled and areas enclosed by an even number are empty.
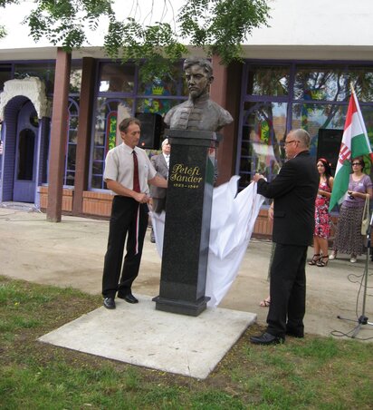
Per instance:
[[[272,182],[259,180],[258,193],[273,198],[273,242],[308,246],[315,227],[320,176],[309,151],[286,161]]]

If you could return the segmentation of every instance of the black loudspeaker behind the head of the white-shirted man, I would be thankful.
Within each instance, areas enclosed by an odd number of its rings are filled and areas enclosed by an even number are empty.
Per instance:
[[[159,150],[162,116],[152,112],[136,112],[135,117],[141,122],[139,148]]]

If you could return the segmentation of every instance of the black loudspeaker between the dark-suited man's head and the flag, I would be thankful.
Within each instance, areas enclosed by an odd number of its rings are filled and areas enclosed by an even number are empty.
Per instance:
[[[343,130],[326,130],[320,128],[317,144],[317,158],[325,158],[331,164],[331,175],[334,176],[340,154],[340,142]]]

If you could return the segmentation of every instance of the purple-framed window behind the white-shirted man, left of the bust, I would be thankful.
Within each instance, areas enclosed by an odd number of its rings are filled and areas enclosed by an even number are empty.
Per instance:
[[[91,190],[106,189],[103,181],[107,152],[120,144],[119,122],[137,112],[162,116],[174,105],[186,100],[181,62],[171,73],[144,83],[135,64],[100,63],[100,82],[96,99],[94,138],[91,149]]]

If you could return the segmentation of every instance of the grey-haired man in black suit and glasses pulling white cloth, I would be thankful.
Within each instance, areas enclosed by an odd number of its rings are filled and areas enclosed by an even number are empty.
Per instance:
[[[277,177],[266,182],[255,174],[257,192],[273,198],[273,242],[276,248],[271,267],[271,304],[267,329],[250,337],[258,345],[282,343],[285,335],[304,337],[306,305],[305,263],[315,225],[314,206],[319,174],[310,156],[310,134],[293,130],[286,136],[286,161]]]

